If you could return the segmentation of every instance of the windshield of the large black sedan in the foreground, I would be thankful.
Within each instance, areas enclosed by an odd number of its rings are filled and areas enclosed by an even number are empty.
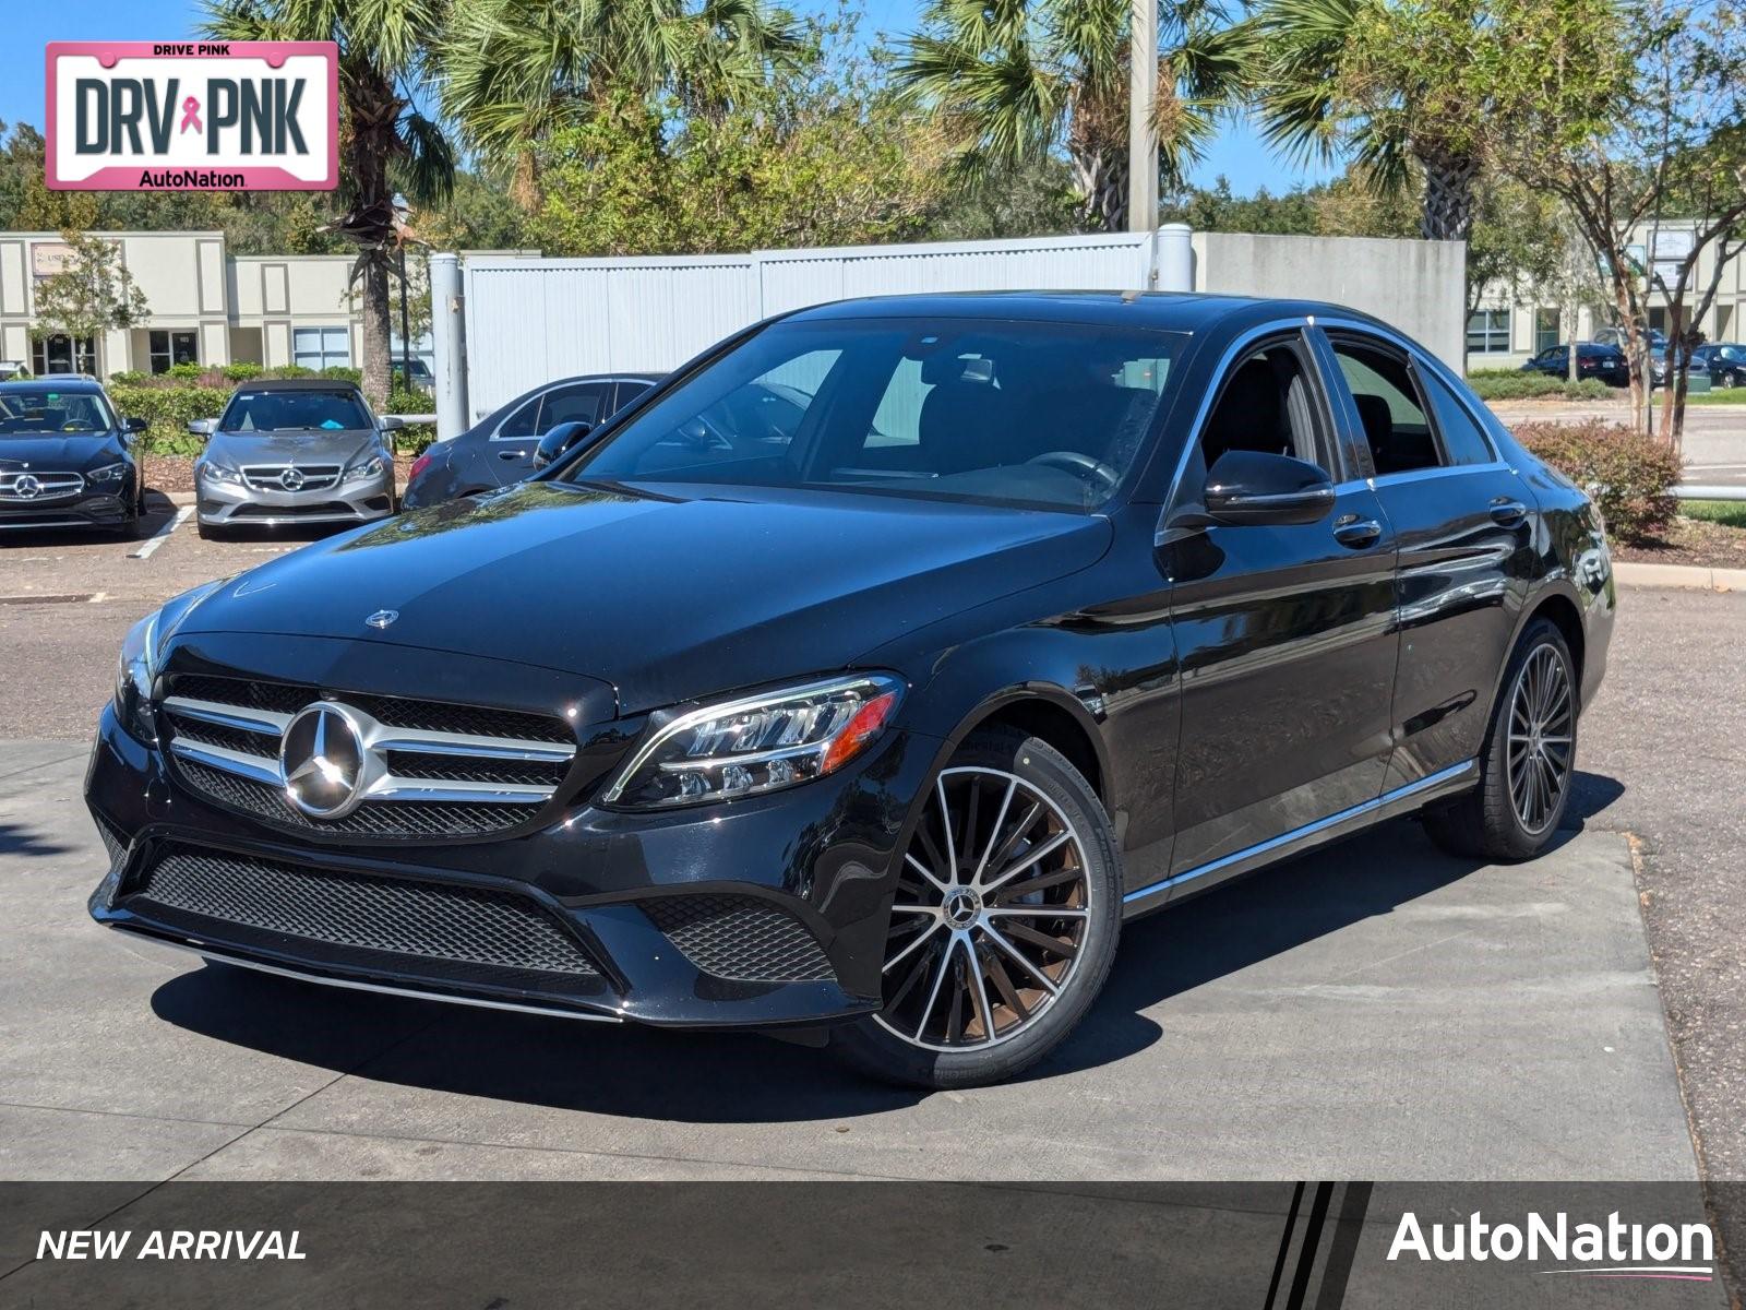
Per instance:
[[[1095,510],[1138,463],[1186,342],[1081,323],[777,323],[562,479]]]

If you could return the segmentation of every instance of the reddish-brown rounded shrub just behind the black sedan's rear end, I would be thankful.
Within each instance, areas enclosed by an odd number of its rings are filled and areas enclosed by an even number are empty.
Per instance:
[[[1516,440],[1594,496],[1606,531],[1622,541],[1660,534],[1680,503],[1678,452],[1622,423],[1521,423]]]

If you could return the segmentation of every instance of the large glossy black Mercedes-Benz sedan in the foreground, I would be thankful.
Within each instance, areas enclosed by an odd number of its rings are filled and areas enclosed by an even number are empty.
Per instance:
[[[740,426],[772,388],[800,421]],[[145,618],[91,912],[318,982],[1007,1078],[1124,919],[1414,810],[1536,854],[1613,606],[1589,498],[1364,314],[803,309],[533,480]]]

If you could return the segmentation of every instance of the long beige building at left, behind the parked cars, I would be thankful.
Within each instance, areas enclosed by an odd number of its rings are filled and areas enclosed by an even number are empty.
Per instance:
[[[31,372],[164,372],[171,363],[358,363],[349,255],[232,255],[223,232],[103,232],[147,299],[141,327],[96,341],[33,339],[37,286],[59,272],[58,232],[0,232],[0,360]]]

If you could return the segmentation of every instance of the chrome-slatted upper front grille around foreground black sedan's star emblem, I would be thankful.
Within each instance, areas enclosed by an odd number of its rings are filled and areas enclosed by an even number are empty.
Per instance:
[[[279,760],[285,730],[318,702],[342,706],[363,748],[354,803],[332,817],[293,803]],[[501,831],[552,800],[576,755],[564,721],[545,714],[230,678],[175,676],[161,713],[190,789],[302,831],[409,840]]]

